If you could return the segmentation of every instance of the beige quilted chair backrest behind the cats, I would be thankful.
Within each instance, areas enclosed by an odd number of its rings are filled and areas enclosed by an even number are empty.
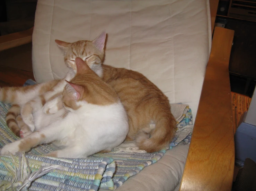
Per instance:
[[[105,64],[143,73],[195,117],[211,47],[208,0],[38,0],[33,32],[37,82],[64,77],[54,40],[94,40],[103,30]]]

